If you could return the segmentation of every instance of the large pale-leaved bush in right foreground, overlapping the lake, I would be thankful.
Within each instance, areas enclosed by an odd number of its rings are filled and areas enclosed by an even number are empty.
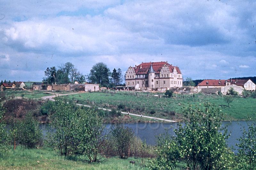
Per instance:
[[[224,115],[219,107],[207,103],[189,106],[183,113],[185,125],[180,123],[175,130],[177,137],[161,143],[155,169],[166,169],[167,165],[175,169],[179,162],[189,170],[232,169],[234,153],[226,143],[227,129],[221,127]]]

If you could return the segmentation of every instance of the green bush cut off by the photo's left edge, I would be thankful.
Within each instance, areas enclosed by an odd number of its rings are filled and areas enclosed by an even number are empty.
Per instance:
[[[3,120],[4,112],[4,108],[0,106],[0,155],[6,152],[6,144],[8,142],[8,136],[5,128],[6,125]]]

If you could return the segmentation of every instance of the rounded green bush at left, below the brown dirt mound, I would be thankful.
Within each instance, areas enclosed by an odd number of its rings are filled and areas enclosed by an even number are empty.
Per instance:
[[[43,139],[42,130],[39,122],[31,114],[26,114],[25,118],[18,122],[17,141],[21,147],[27,149],[36,148]]]

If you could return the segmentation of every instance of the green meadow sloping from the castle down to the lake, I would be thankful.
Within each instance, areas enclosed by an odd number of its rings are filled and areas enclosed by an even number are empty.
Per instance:
[[[256,120],[256,99],[235,97],[235,100],[227,107],[224,98],[219,95],[206,94],[175,94],[173,98],[156,97],[163,93],[146,92],[92,92],[70,95],[69,98],[76,100],[81,104],[87,104],[105,108],[117,108],[118,105],[124,105],[123,111],[130,113],[150,115],[166,119],[182,119],[183,107],[189,104],[195,105],[204,102],[210,102],[219,106],[226,114],[226,120],[244,120],[251,118]],[[150,114],[150,111],[156,111]]]

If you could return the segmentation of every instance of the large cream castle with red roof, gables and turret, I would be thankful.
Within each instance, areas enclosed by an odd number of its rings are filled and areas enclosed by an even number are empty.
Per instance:
[[[126,87],[135,89],[182,87],[182,74],[177,66],[166,62],[149,62],[130,66],[126,71]]]

